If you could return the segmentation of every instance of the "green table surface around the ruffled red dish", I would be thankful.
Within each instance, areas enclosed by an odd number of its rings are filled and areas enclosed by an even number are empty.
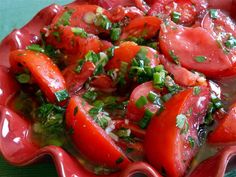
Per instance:
[[[43,7],[52,3],[66,4],[68,2],[71,0],[0,0],[0,41],[14,28],[20,28],[26,24]],[[8,164],[0,156],[0,177],[42,176],[57,176],[52,162],[15,167]],[[236,177],[236,170],[229,172],[226,176]]]

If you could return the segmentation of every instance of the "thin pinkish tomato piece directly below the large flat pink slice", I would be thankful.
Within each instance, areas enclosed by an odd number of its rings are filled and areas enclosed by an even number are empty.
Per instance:
[[[177,84],[182,86],[206,85],[206,79],[199,74],[192,73],[186,68],[168,61],[163,56],[159,56],[159,58],[165,69],[174,76]]]

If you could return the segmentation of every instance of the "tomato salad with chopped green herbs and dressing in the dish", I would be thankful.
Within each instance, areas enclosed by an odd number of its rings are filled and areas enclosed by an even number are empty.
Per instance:
[[[95,174],[185,176],[236,144],[236,25],[205,0],[72,3],[9,61],[36,143]]]

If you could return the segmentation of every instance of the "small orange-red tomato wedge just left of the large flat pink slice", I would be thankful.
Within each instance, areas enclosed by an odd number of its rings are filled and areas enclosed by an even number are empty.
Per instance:
[[[130,37],[150,39],[157,35],[160,24],[161,20],[154,16],[135,18],[123,29],[120,40],[129,39]]]

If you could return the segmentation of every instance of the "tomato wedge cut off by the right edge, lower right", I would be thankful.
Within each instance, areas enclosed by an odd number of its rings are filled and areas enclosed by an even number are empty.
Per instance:
[[[232,105],[227,115],[219,120],[218,125],[208,137],[213,144],[236,144],[236,104]]]

